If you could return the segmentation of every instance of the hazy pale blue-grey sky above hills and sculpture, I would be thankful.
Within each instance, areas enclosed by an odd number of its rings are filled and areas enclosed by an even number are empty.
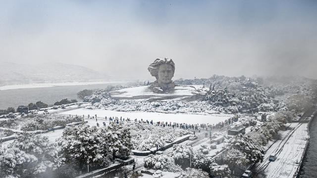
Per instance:
[[[317,0],[0,0],[0,61],[141,79],[163,57],[175,78],[317,79]]]

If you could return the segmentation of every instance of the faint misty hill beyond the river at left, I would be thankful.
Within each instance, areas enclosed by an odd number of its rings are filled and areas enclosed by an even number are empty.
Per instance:
[[[87,67],[63,63],[16,64],[2,62],[0,69],[0,86],[106,80],[105,75]]]

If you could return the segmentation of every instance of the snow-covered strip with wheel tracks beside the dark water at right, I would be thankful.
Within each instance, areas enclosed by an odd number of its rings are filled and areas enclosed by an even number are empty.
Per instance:
[[[256,171],[267,178],[292,178],[299,168],[305,146],[308,142],[308,124],[292,123],[292,130],[281,132],[282,140],[277,140],[265,153],[264,161],[257,165]],[[274,162],[268,161],[272,153],[277,153]]]

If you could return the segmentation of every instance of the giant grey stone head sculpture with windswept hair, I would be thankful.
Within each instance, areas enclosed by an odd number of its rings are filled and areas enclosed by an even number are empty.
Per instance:
[[[156,59],[148,70],[157,79],[149,87],[153,92],[164,93],[174,90],[175,84],[171,79],[174,76],[175,64],[172,59]]]

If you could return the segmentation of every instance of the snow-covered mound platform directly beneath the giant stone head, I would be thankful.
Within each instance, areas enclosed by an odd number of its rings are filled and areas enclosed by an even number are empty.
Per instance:
[[[203,86],[175,86],[174,91],[168,93],[154,93],[149,86],[119,89],[109,92],[113,99],[135,99],[135,100],[182,100],[192,101],[201,99],[207,93],[208,88]]]

